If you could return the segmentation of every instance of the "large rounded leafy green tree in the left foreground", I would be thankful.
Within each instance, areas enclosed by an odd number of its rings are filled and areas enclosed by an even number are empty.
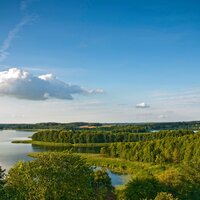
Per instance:
[[[85,160],[70,153],[44,153],[18,162],[8,173],[6,199],[97,199],[94,175]]]

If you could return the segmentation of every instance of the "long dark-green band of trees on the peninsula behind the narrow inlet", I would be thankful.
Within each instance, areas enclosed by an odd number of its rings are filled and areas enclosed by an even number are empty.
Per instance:
[[[127,132],[128,130],[128,132]],[[192,130],[165,130],[153,133],[134,133],[133,129],[114,129],[113,131],[92,130],[44,130],[33,134],[35,141],[57,143],[112,143],[137,142],[194,134]]]

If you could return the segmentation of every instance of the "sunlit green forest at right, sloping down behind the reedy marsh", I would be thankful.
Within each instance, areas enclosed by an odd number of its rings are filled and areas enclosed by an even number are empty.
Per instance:
[[[154,163],[196,162],[200,158],[200,133],[160,140],[112,143],[101,153],[130,161]]]

